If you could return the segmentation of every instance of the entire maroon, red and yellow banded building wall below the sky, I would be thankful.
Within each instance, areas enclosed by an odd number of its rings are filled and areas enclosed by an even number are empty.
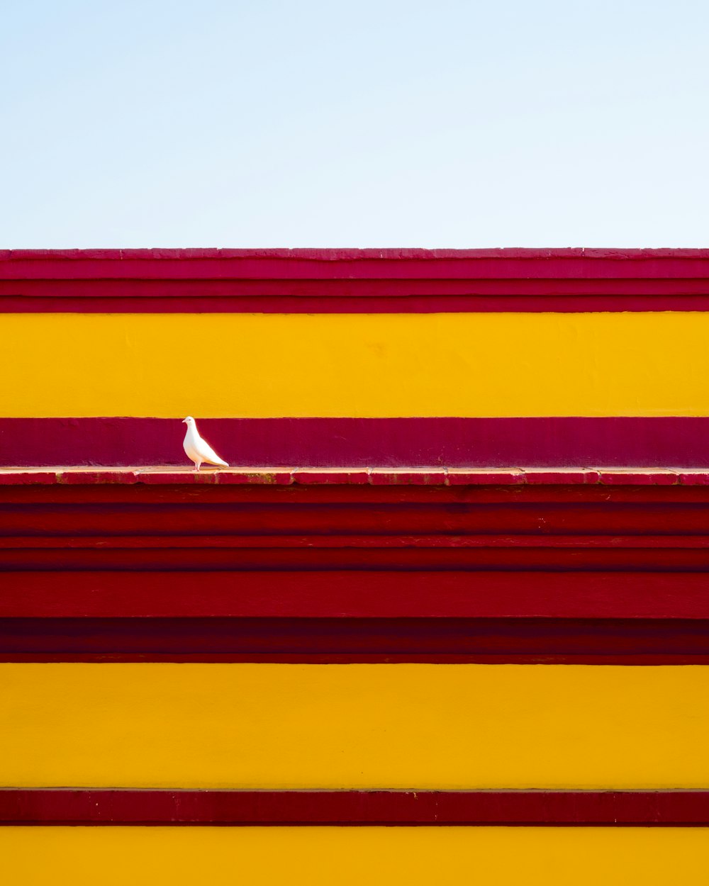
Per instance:
[[[0,253],[0,311],[12,882],[706,882],[709,253]]]

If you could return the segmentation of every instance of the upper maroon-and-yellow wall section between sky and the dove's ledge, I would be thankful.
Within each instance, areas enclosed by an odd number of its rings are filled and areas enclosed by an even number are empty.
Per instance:
[[[191,414],[236,464],[708,467],[708,280],[701,250],[0,253],[0,464],[183,463]]]

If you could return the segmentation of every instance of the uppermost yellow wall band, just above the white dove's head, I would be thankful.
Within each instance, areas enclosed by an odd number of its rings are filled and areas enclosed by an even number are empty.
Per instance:
[[[3,315],[4,416],[707,416],[709,313]]]

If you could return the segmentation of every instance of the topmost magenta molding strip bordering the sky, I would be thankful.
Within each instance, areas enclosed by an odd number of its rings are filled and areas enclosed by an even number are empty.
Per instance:
[[[705,249],[4,250],[0,279],[515,279],[709,276]]]

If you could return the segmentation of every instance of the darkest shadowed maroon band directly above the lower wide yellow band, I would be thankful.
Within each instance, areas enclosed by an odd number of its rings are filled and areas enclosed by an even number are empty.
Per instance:
[[[0,618],[0,661],[698,664],[709,620]]]

